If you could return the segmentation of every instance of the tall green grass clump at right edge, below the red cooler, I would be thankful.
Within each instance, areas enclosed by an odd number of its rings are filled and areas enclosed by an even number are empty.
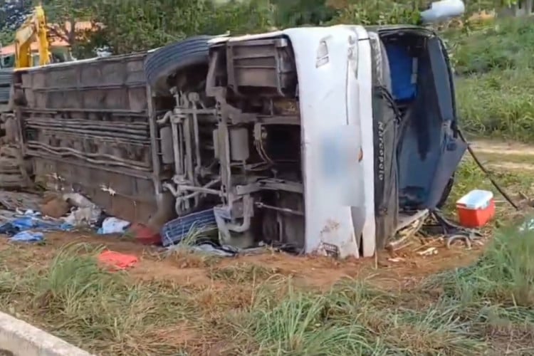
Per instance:
[[[515,355],[534,352],[534,231],[517,226],[498,231],[473,266],[429,278],[423,288],[443,290],[441,300],[456,306],[480,338]],[[499,343],[501,342],[501,343]]]

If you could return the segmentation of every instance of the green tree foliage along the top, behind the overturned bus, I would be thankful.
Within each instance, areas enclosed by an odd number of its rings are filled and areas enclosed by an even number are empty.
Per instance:
[[[103,23],[90,43],[114,53],[142,51],[200,33],[256,33],[272,28],[333,23],[414,23],[419,1],[375,0],[59,0],[47,1],[49,22]],[[74,41],[74,36],[70,40]]]

